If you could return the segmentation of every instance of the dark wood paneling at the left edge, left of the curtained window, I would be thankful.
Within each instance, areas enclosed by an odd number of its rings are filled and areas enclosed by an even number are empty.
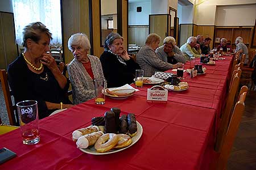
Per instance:
[[[0,31],[0,68],[7,69],[7,66],[18,56],[13,13],[0,12]]]

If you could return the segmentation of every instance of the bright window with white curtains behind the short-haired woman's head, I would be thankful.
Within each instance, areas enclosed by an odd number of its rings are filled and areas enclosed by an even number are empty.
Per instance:
[[[52,45],[62,45],[60,0],[13,0],[16,43],[22,45],[23,28],[42,22],[52,33]]]

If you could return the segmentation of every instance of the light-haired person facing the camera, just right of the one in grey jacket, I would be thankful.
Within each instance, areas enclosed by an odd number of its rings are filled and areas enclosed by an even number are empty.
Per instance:
[[[163,40],[163,45],[156,49],[157,56],[164,62],[175,65],[177,62],[186,62],[186,59],[176,46],[174,37],[168,36]]]

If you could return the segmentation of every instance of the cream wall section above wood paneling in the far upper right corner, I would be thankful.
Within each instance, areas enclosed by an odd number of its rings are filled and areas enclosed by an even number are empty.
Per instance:
[[[256,4],[217,6],[215,25],[254,25],[256,18]],[[239,21],[239,22],[238,22]]]

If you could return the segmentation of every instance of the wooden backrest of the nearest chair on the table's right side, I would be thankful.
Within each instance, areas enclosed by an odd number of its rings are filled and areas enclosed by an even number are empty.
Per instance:
[[[237,101],[233,109],[232,117],[228,126],[228,131],[226,131],[225,133],[225,140],[220,150],[220,157],[218,158],[216,167],[217,170],[226,169],[226,164],[228,163],[228,158],[230,156],[234,139],[236,138],[237,130],[242,119],[243,111],[245,109],[246,94],[247,92],[243,92],[240,95],[239,100]]]

